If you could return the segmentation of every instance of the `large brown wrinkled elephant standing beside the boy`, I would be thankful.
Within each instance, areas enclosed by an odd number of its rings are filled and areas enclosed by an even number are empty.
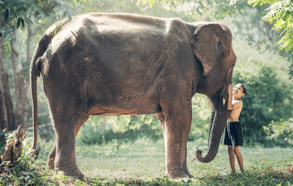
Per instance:
[[[210,162],[230,114],[225,100],[235,62],[232,33],[220,22],[125,13],[66,18],[42,35],[30,64],[32,150],[42,75],[56,135],[48,157],[54,171],[86,180],[77,166],[75,137],[89,115],[155,114],[163,129],[165,174],[193,178],[186,161],[191,99],[205,94],[212,109],[207,154],[196,151],[200,162]]]

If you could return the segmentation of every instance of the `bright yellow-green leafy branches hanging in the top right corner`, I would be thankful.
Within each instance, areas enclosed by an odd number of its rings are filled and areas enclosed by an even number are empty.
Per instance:
[[[231,0],[230,5],[235,4],[239,0]],[[293,2],[290,0],[249,0],[247,3],[261,6],[268,4],[269,8],[266,10],[268,13],[263,16],[263,20],[270,24],[274,23],[273,29],[281,32],[280,36],[283,37],[275,43],[280,44],[279,51],[285,49],[288,51],[293,47]],[[293,53],[292,53],[293,54]]]

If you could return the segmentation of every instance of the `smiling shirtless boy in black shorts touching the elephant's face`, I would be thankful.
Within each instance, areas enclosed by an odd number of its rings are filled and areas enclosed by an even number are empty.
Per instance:
[[[231,112],[225,126],[223,144],[228,147],[228,156],[231,167],[230,173],[233,174],[235,173],[235,156],[240,170],[244,171],[243,158],[239,151],[239,146],[243,146],[243,129],[238,121],[238,117],[243,104],[240,98],[246,94],[246,88],[239,83],[232,89],[232,85],[230,84],[228,86],[228,94],[229,99],[227,109],[231,110]]]

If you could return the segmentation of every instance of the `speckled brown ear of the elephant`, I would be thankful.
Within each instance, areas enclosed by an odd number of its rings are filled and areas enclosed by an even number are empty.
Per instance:
[[[193,53],[204,69],[204,76],[213,70],[219,60],[223,50],[220,36],[223,31],[219,23],[203,23],[197,27],[190,41]]]

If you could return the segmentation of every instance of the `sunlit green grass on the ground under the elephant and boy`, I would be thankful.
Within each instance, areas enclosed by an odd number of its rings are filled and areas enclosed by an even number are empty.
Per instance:
[[[32,141],[30,138],[26,140]],[[43,171],[44,164],[40,163],[46,163],[53,140],[39,141],[42,149],[38,166],[41,165],[39,170]],[[240,147],[245,171],[240,173],[235,162],[238,172],[227,175],[230,165],[224,145],[220,144],[216,158],[210,163],[204,164],[194,159],[196,147],[205,153],[206,145],[207,140],[202,139],[187,143],[187,165],[196,178],[191,182],[187,179],[174,181],[164,176],[163,140],[152,141],[143,137],[137,140],[112,140],[102,145],[77,144],[77,164],[88,179],[86,183],[47,169],[45,172],[51,185],[293,185],[293,170],[290,172],[287,166],[293,163],[292,149]],[[27,144],[27,147],[30,145]],[[59,182],[56,178],[60,178]]]

